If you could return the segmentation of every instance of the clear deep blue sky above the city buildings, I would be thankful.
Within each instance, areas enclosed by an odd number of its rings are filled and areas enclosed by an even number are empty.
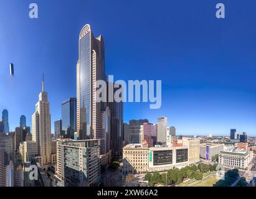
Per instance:
[[[29,18],[29,4],[39,19]],[[216,4],[225,4],[217,19]],[[125,103],[124,119],[167,116],[178,134],[256,136],[256,2],[0,0],[0,110],[11,130],[49,94],[52,132],[61,102],[76,96],[78,35],[90,24],[105,39],[115,80],[162,80],[161,109]],[[9,75],[14,63],[15,76]]]

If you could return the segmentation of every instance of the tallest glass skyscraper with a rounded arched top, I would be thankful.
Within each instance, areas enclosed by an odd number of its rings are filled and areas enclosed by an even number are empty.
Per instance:
[[[96,81],[105,80],[105,47],[102,35],[95,38],[90,25],[79,36],[77,62],[77,135],[80,140],[101,138],[101,105],[97,103]]]

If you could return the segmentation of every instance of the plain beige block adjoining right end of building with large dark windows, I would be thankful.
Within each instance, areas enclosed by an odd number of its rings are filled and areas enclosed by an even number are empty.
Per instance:
[[[200,139],[183,137],[183,146],[189,149],[189,165],[198,164],[200,162]]]

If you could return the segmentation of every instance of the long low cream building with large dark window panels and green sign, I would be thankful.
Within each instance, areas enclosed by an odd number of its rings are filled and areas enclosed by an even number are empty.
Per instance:
[[[128,144],[123,148],[123,172],[141,174],[166,172],[189,165],[188,147],[148,147],[146,144]]]

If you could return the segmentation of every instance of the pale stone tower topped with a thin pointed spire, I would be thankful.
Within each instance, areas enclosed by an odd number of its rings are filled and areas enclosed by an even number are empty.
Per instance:
[[[37,144],[40,165],[49,165],[50,162],[50,103],[44,90],[44,75],[42,79],[42,91],[36,104],[36,111],[32,115],[32,139]]]

